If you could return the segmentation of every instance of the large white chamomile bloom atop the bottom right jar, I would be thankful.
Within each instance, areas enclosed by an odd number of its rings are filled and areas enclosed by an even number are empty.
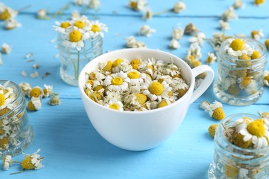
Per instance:
[[[242,135],[242,143],[237,143],[236,145],[243,148],[248,148],[251,143],[253,144],[254,149],[261,149],[268,146],[269,131],[264,125],[264,120],[266,119],[257,119],[251,120],[250,123],[239,123],[237,125],[237,131]],[[242,144],[248,144],[242,146]]]

